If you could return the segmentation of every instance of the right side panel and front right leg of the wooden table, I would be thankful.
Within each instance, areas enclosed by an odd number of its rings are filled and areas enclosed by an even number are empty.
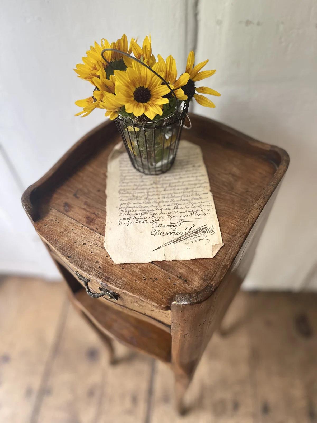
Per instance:
[[[209,297],[203,301],[198,293],[190,303],[188,295],[178,295],[172,303],[172,368],[175,373],[176,407],[185,412],[183,396],[186,392],[200,357],[213,332],[220,327],[232,299],[235,297],[251,266],[255,247],[264,228],[274,198],[266,204],[261,216],[253,225],[239,253],[235,257],[219,286],[210,286]]]

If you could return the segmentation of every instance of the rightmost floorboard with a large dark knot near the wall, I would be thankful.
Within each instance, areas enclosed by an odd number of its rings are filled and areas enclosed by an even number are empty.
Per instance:
[[[252,296],[250,364],[261,423],[317,421],[316,300],[314,294]]]

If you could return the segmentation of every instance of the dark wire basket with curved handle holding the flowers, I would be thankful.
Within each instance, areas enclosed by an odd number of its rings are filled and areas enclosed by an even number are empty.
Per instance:
[[[146,175],[159,175],[167,172],[175,161],[189,103],[184,103],[183,108],[181,108],[181,102],[176,97],[169,83],[142,61],[117,49],[104,49],[101,52],[103,58],[105,51],[120,52],[120,54],[141,63],[142,66],[147,67],[156,74],[162,80],[162,83],[168,86],[171,91],[169,95],[172,94],[174,96],[176,100],[175,110],[164,118],[154,118],[153,121],[147,121],[144,124],[140,124],[137,119],[120,114],[115,119],[134,168]],[[105,58],[104,60],[111,65]]]

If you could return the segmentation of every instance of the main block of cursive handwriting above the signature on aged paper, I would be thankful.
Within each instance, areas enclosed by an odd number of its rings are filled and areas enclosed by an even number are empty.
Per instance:
[[[172,169],[159,177],[139,174],[131,178],[128,155],[121,155],[119,225],[147,223],[153,229],[172,229],[185,222],[210,219],[214,205],[201,153],[190,148],[191,154],[187,154],[187,147],[183,150],[178,156],[178,171]]]

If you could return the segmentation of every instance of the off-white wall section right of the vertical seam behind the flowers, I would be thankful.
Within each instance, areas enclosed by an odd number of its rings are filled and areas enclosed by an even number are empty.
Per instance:
[[[244,287],[317,288],[316,0],[200,0],[196,52],[222,96],[195,112],[290,154]]]

